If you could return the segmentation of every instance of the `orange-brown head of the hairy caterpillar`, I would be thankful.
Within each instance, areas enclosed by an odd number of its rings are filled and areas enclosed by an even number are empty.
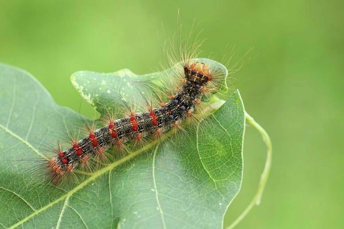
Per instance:
[[[189,66],[184,66],[184,73],[188,81],[197,82],[200,85],[206,84],[211,78],[209,67],[201,62],[193,62]]]

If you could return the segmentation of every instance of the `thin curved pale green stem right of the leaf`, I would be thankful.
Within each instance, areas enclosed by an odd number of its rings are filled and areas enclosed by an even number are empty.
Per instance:
[[[245,208],[243,213],[238,216],[238,218],[227,228],[227,229],[232,229],[234,228],[242,219],[245,218],[245,216],[249,213],[249,211],[255,206],[259,205],[261,201],[262,194],[264,192],[264,188],[266,185],[266,182],[268,181],[269,177],[269,172],[271,168],[271,159],[272,159],[272,145],[271,145],[271,140],[268,135],[268,133],[265,131],[263,127],[261,127],[256,121],[245,111],[245,118],[247,123],[251,124],[254,126],[261,134],[266,148],[267,148],[267,155],[266,155],[266,161],[265,161],[265,167],[264,170],[260,176],[260,182],[258,185],[258,190],[255,196],[253,197],[251,203]]]

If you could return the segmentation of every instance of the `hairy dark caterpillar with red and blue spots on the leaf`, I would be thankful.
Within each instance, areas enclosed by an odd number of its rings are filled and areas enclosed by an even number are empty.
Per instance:
[[[207,82],[211,80],[209,67],[200,62],[184,66],[183,85],[170,102],[144,113],[131,112],[130,116],[110,120],[97,130],[89,129],[89,135],[79,141],[73,141],[68,150],[57,150],[57,156],[47,165],[53,183],[57,183],[67,172],[78,164],[86,164],[92,156],[101,158],[101,154],[112,146],[121,146],[129,140],[140,140],[152,135],[159,136],[177,127],[186,117],[190,117],[195,106],[200,103]],[[82,165],[83,167],[83,165]]]

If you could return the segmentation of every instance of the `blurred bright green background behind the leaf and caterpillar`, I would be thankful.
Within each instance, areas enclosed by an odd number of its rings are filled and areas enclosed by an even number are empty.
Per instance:
[[[202,57],[239,59],[233,84],[273,142],[262,203],[237,228],[343,228],[342,1],[1,1],[0,61],[31,72],[55,101],[79,111],[69,76],[78,70],[138,74],[159,67],[157,31],[193,20],[208,38]],[[161,34],[161,33],[160,33]],[[94,112],[82,102],[81,113]],[[243,186],[228,208],[228,226],[250,202],[265,146],[247,127]]]

